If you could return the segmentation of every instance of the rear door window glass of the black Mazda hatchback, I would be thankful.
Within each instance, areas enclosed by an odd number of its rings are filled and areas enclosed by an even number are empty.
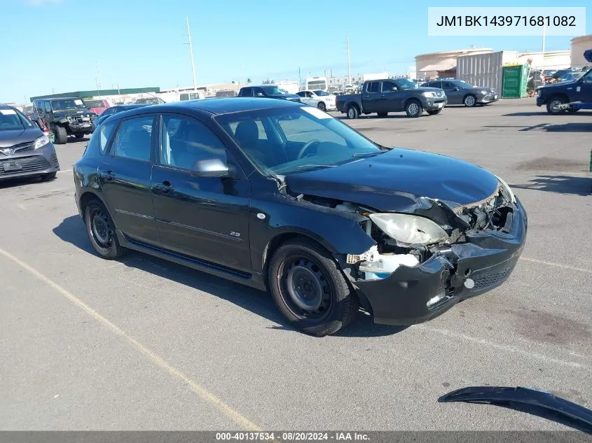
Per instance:
[[[113,141],[113,155],[148,162],[153,120],[151,115],[123,120]]]

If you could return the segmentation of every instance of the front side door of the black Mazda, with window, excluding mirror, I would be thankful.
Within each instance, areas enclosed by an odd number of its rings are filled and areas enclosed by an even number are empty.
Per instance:
[[[250,273],[251,185],[240,166],[212,129],[188,115],[163,113],[158,138],[151,192],[163,246]],[[228,164],[228,176],[194,173],[195,162],[212,158]]]

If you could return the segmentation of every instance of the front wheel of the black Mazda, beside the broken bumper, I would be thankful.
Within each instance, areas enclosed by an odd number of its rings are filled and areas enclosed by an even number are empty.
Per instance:
[[[357,314],[357,295],[337,263],[309,239],[289,240],[277,248],[270,260],[268,282],[277,309],[306,334],[334,334]]]

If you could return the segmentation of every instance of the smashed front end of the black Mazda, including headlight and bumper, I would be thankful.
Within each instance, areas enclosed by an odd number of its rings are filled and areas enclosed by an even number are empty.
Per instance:
[[[426,197],[412,213],[331,206],[366,217],[361,227],[376,244],[340,261],[374,321],[392,325],[428,321],[500,286],[527,230],[523,206],[501,180],[493,195],[464,206]]]

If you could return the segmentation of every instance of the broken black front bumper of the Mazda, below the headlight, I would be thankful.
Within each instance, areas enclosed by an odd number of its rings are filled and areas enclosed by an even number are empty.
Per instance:
[[[369,302],[375,323],[413,325],[437,317],[468,297],[486,293],[507,280],[526,239],[528,219],[520,202],[513,207],[509,234],[472,230],[467,243],[434,248],[416,267],[400,266],[378,280],[353,281],[362,300]],[[465,286],[471,279],[474,286]],[[431,307],[436,295],[445,297]]]

